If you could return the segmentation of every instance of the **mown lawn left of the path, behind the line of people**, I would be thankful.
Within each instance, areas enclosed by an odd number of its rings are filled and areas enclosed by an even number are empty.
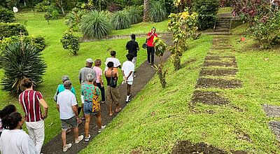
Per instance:
[[[59,134],[60,122],[59,113],[55,108],[53,102],[53,95],[57,85],[61,83],[61,78],[68,75],[73,82],[73,87],[76,88],[78,102],[80,102],[80,84],[78,83],[78,72],[80,68],[85,66],[85,59],[91,57],[92,59],[102,59],[102,69],[104,69],[104,62],[110,53],[107,49],[112,48],[117,51],[117,58],[123,63],[126,60],[125,45],[130,39],[120,39],[112,41],[97,41],[90,43],[81,43],[78,56],[73,56],[69,51],[62,48],[60,38],[62,38],[67,27],[64,25],[65,20],[50,20],[50,25],[43,18],[43,13],[18,13],[18,22],[27,26],[30,35],[44,36],[47,47],[43,50],[43,58],[45,59],[48,68],[43,76],[44,82],[36,88],[42,92],[44,99],[50,106],[48,118],[45,120],[45,142]],[[165,25],[165,22],[163,22]],[[152,25],[151,25],[152,26]],[[139,27],[137,27],[139,28]],[[131,29],[134,30],[133,27]],[[160,31],[160,29],[159,29]],[[127,31],[124,31],[125,34]],[[137,38],[139,45],[141,45],[146,38]],[[146,60],[146,50],[141,49],[137,57],[137,66]],[[0,77],[3,76],[3,70],[0,71]],[[122,76],[120,76],[122,78]],[[121,82],[121,80],[119,80]],[[10,97],[7,92],[0,90],[0,109],[8,103],[16,104],[20,113],[23,114],[22,107],[18,104],[18,98]]]

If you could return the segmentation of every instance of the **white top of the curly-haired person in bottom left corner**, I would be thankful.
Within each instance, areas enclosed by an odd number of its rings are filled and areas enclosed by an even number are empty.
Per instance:
[[[36,148],[29,135],[23,130],[3,130],[0,137],[2,154],[35,154]]]

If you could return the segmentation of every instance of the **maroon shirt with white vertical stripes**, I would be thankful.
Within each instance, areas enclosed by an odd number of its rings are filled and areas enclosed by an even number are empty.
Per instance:
[[[34,90],[25,90],[20,94],[19,101],[23,111],[25,111],[25,121],[36,122],[43,120],[39,104],[40,99],[43,99],[41,92]]]

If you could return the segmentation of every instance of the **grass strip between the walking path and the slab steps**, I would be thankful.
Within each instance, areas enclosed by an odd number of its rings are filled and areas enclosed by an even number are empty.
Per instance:
[[[177,139],[188,136],[188,103],[193,94],[200,65],[211,47],[211,36],[190,42],[184,53],[186,66],[174,71],[167,63],[167,87],[158,76],[128,104],[113,123],[81,153],[167,153]],[[190,62],[195,59],[195,62]]]

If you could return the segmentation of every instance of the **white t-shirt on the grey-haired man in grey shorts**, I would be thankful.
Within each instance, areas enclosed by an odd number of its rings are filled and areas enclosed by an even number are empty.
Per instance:
[[[57,94],[57,104],[59,105],[60,119],[66,120],[75,116],[72,106],[77,105],[77,100],[70,90],[64,90]]]

